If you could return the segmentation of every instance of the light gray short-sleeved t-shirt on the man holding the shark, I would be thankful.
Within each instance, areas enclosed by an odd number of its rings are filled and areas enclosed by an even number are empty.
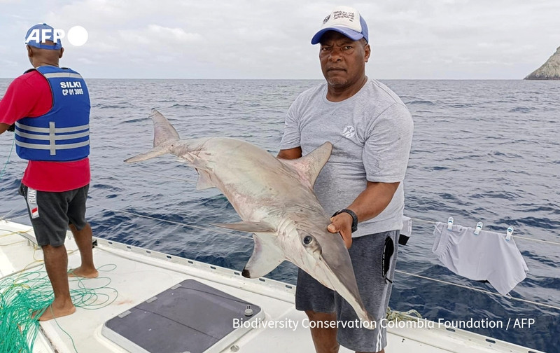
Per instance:
[[[332,155],[314,188],[328,216],[348,207],[365,190],[367,181],[400,181],[386,209],[360,222],[352,236],[400,230],[405,208],[402,181],[414,128],[410,112],[395,92],[371,78],[342,102],[330,102],[326,95],[323,83],[295,99],[288,109],[280,148],[300,146],[306,155],[325,141],[332,143]]]

